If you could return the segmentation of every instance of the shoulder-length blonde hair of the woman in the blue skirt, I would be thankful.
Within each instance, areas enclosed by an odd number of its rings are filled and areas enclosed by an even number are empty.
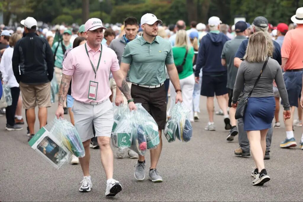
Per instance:
[[[247,62],[264,62],[268,57],[268,45],[264,32],[256,32],[251,35],[244,59]]]

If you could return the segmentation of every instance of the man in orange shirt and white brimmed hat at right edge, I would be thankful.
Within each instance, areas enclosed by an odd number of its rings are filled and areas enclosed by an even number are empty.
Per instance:
[[[285,120],[286,139],[281,142],[281,148],[297,146],[292,130],[293,114],[295,107],[298,107],[298,98],[301,96],[303,76],[303,7],[298,8],[296,15],[291,21],[297,24],[297,28],[286,33],[281,49],[282,65],[285,70],[284,81],[288,93],[288,100],[291,106],[291,118]],[[300,148],[303,150],[303,134]]]

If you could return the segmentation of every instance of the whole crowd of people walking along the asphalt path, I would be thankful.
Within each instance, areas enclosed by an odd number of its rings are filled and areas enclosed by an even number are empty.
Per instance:
[[[147,13],[140,23],[128,17],[121,27],[111,28],[98,18],[88,19],[78,28],[43,25],[39,29],[32,17],[22,20],[22,28],[16,31],[1,25],[0,78],[12,96],[12,105],[1,109],[6,115],[5,129],[22,130],[21,125],[27,124],[31,140],[37,105],[40,128],[47,124],[51,82],[55,81],[59,87],[56,116],[69,114],[85,148],[85,157],[72,158],[72,164],[80,162],[83,171],[79,191],[92,188],[90,148],[100,148],[107,178],[105,196],[113,197],[122,186],[113,179],[112,103],[127,103],[130,110],[142,103],[154,118],[160,144],[150,150],[148,179],[162,182],[157,163],[170,107],[182,102],[191,111],[189,119],[198,121],[201,95],[207,97],[202,103],[208,112],[205,130],[215,131],[214,114],[223,115],[224,128],[229,131],[226,140],[233,141],[238,135],[239,148],[234,153],[252,154],[252,184],[263,185],[270,180],[264,159],[270,158],[273,127],[281,126],[280,100],[286,129],[280,147],[297,146],[293,127],[302,126],[303,7],[291,21],[289,26],[279,23],[273,27],[258,16],[251,25],[239,21],[230,28],[212,16],[207,25],[193,21],[186,29],[183,20],[161,26],[160,19]],[[220,107],[216,113],[215,97]],[[293,120],[295,108],[298,120]],[[303,150],[303,134],[300,148]],[[130,149],[118,149],[116,156],[123,158],[125,152],[138,158],[134,176],[144,180],[145,157]]]

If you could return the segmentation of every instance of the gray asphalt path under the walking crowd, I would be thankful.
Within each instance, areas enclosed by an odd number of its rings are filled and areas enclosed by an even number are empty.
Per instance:
[[[271,180],[263,187],[254,187],[250,176],[253,159],[234,155],[238,141],[226,141],[223,116],[215,115],[216,131],[204,130],[208,121],[205,103],[206,99],[201,99],[201,119],[192,124],[190,142],[168,143],[162,138],[158,171],[163,183],[152,183],[148,177],[135,181],[136,160],[115,158],[114,178],[122,183],[123,190],[113,199],[104,197],[106,179],[99,150],[91,149],[92,191],[80,193],[80,165],[55,170],[28,146],[26,126],[17,132],[5,131],[5,116],[0,116],[0,201],[302,201],[303,151],[298,146],[279,148],[285,139],[284,124],[274,129],[271,159],[265,161]],[[55,110],[53,104],[48,120],[54,118]],[[68,115],[66,118],[69,120]],[[297,143],[301,134],[302,130],[295,128]],[[148,167],[149,154],[146,159]]]

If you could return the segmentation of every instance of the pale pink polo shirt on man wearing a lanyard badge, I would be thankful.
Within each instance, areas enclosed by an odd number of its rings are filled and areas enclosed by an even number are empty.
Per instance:
[[[91,62],[97,70],[98,60],[101,48],[95,52],[86,43],[89,58],[85,51],[85,46],[80,45],[72,49],[63,62],[63,74],[72,76],[72,97],[80,102],[101,102],[107,99],[112,91],[109,88],[108,79],[110,71],[118,71],[120,69],[119,61],[116,53],[102,46],[102,56],[100,65],[96,74],[92,68]],[[88,99],[89,81],[98,82],[97,99]]]

